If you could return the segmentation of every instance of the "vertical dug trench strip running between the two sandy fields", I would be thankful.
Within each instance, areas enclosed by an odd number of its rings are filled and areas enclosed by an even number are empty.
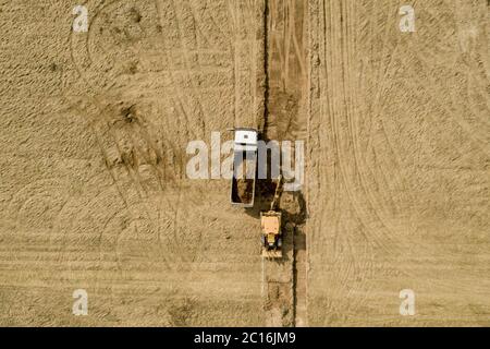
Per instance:
[[[264,67],[266,74],[261,137],[306,139],[307,13],[303,0],[265,0]],[[270,157],[268,158],[269,164]],[[267,210],[275,185],[258,180],[255,214]],[[283,192],[283,258],[262,262],[262,296],[270,326],[307,326],[306,203],[303,193]]]

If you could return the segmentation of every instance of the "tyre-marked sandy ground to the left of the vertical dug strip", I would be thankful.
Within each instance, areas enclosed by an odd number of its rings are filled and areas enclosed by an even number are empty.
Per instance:
[[[264,323],[259,221],[185,176],[264,115],[260,3],[88,1],[88,33],[73,5],[1,5],[0,323]]]

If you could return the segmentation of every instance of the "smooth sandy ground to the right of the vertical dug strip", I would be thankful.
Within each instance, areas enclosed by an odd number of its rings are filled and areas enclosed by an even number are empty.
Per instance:
[[[490,8],[373,3],[309,8],[309,324],[489,326]]]

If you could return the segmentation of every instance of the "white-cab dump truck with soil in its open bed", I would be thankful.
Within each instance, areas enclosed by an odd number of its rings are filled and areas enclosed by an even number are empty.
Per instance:
[[[231,129],[235,132],[233,145],[233,177],[231,204],[254,207],[257,178],[258,132],[255,129]]]

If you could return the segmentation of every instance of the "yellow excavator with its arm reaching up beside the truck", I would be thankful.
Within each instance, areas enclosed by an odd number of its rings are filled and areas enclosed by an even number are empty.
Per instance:
[[[268,212],[260,213],[260,226],[262,229],[261,244],[264,258],[282,257],[282,214],[277,208],[282,190],[282,177],[278,179],[274,197]]]

